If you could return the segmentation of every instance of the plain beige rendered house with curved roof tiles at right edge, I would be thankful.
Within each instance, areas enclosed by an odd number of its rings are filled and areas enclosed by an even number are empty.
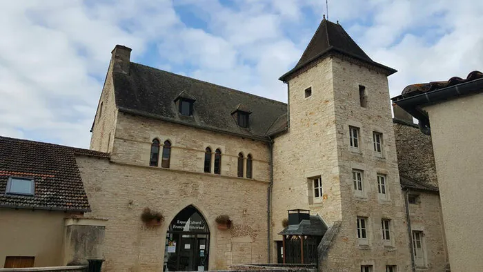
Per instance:
[[[473,71],[466,79],[452,77],[409,85],[393,98],[397,106],[419,120],[422,133],[431,135],[453,271],[483,267],[483,242],[481,235],[475,235],[483,215],[479,162],[483,155],[482,92],[483,73]]]

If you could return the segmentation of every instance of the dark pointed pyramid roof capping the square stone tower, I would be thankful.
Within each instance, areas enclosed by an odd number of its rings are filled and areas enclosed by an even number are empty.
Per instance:
[[[387,75],[392,75],[397,72],[393,68],[378,64],[373,61],[365,52],[362,50],[357,43],[349,36],[342,28],[339,23],[333,23],[325,19],[319,24],[319,28],[315,31],[311,41],[308,43],[307,48],[300,57],[299,62],[295,67],[282,75],[279,79],[286,81],[290,75],[292,75],[297,70],[304,68],[307,64],[319,59],[320,57],[325,57],[326,55],[338,52],[339,54],[351,57],[358,61],[362,61],[366,64],[372,66],[377,66],[386,71]]]

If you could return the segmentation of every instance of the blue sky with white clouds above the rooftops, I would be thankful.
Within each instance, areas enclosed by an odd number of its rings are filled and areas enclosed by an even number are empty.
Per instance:
[[[88,148],[116,44],[131,60],[286,101],[324,0],[3,1],[0,135]],[[339,23],[408,84],[483,70],[483,1],[330,0]]]

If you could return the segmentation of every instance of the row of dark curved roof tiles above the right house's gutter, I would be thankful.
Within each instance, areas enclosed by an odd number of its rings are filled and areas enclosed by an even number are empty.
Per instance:
[[[413,97],[415,95],[420,95],[422,93],[431,92],[433,90],[439,90],[446,87],[455,86],[457,84],[462,84],[465,82],[473,81],[475,79],[482,79],[483,72],[480,71],[473,71],[468,74],[466,79],[462,79],[461,77],[451,77],[451,79],[447,81],[431,81],[428,83],[422,84],[411,84],[406,86],[404,90],[402,90],[402,98]]]

